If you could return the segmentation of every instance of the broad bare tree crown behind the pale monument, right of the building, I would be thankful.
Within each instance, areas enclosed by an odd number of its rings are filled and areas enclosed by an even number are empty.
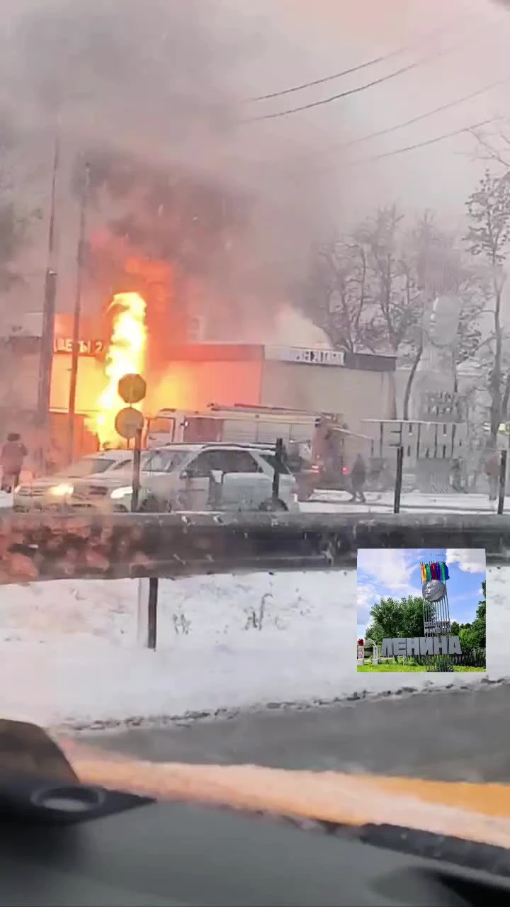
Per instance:
[[[409,366],[403,402],[423,352],[424,305],[455,293],[463,299],[456,361],[475,356],[485,307],[480,279],[458,237],[425,211],[410,226],[396,206],[378,210],[346,238],[334,238],[313,258],[304,306],[338,349],[398,356]]]

